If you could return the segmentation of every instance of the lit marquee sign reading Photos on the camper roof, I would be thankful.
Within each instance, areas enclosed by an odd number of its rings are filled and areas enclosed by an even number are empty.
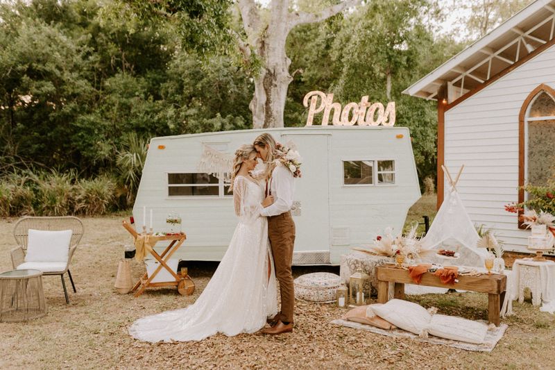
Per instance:
[[[319,105],[318,100],[320,100]],[[368,95],[366,95],[362,96],[360,103],[348,103],[342,110],[341,104],[334,103],[333,100],[334,94],[325,94],[321,91],[311,91],[306,94],[302,104],[309,108],[307,126],[312,126],[314,115],[322,111],[324,111],[322,126],[327,126],[332,110],[334,126],[353,126],[354,124],[393,126],[395,124],[395,101],[390,101],[384,108],[382,103],[369,103]]]

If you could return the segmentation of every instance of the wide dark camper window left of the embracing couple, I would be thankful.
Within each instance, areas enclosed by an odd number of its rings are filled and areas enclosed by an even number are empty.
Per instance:
[[[168,174],[168,195],[223,196],[223,183],[209,174]]]

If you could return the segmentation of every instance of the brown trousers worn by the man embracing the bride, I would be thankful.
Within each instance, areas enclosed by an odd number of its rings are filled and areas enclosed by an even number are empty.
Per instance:
[[[295,222],[291,212],[268,217],[268,237],[272,247],[275,276],[280,282],[282,308],[280,320],[293,322],[295,308],[295,290],[291,263],[293,262],[293,247],[295,246]]]

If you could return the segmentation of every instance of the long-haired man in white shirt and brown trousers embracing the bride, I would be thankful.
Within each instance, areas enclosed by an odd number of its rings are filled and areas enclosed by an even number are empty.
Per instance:
[[[264,334],[281,334],[293,331],[293,309],[295,305],[295,292],[293,291],[293,275],[291,262],[293,262],[293,246],[295,244],[295,222],[291,217],[291,205],[295,183],[293,174],[285,166],[275,166],[275,140],[272,135],[263,133],[254,142],[258,158],[268,163],[266,178],[266,199],[262,202],[264,207],[262,216],[268,217],[268,237],[272,247],[275,264],[275,276],[280,282],[282,308],[273,319],[268,319],[271,328],[264,328]],[[272,203],[273,196],[275,201]]]

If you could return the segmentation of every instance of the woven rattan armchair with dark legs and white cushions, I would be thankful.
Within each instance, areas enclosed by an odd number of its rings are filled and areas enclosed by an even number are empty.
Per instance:
[[[56,230],[71,230],[71,242],[69,243],[69,255],[67,258],[67,262],[63,261],[64,263],[60,262],[57,264],[50,263],[49,267],[44,269],[40,269],[40,266],[33,266],[33,269],[38,269],[42,271],[43,275],[60,275],[62,277],[62,286],[64,287],[64,294],[65,294],[65,301],[69,304],[69,297],[67,296],[67,289],[65,286],[64,274],[67,272],[69,276],[69,281],[71,281],[71,286],[74,288],[74,293],[77,292],[75,289],[74,279],[71,277],[71,272],[69,272],[69,264],[71,263],[71,257],[74,255],[77,245],[79,244],[81,237],[83,237],[83,222],[80,219],[73,216],[64,216],[64,217],[23,217],[17,221],[15,224],[15,228],[13,230],[13,236],[15,237],[15,241],[17,248],[12,249],[12,266],[14,269],[18,269],[18,267],[28,269],[30,267],[26,266],[26,264],[30,264],[33,262],[25,263],[25,255],[27,250],[27,243],[28,243],[28,230],[49,230],[49,231],[56,231]],[[45,262],[46,263],[46,262]],[[64,266],[65,264],[65,266]],[[53,267],[54,266],[54,267]],[[44,271],[49,270],[49,271]],[[54,271],[53,271],[54,270]]]

